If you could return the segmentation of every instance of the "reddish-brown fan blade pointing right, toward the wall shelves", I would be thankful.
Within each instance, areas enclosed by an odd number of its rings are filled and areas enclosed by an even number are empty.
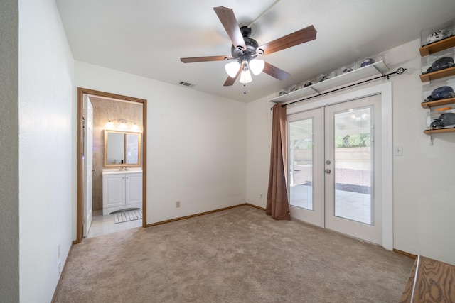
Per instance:
[[[277,40],[261,45],[259,48],[264,50],[264,55],[269,55],[279,50],[291,48],[292,46],[306,43],[314,39],[316,39],[316,29],[314,26],[308,26],[306,28],[302,28],[300,31],[290,33],[282,38],[278,38]]]

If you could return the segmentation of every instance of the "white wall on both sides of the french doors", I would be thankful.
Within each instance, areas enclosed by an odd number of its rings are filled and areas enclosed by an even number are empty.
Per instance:
[[[404,150],[402,157],[393,158],[394,248],[455,264],[455,133],[434,135],[434,145],[423,133],[427,110],[420,105],[419,46],[419,40],[414,40],[385,52],[390,71],[407,68],[405,74],[390,77],[393,144]],[[267,193],[269,158],[258,155],[269,153],[272,114],[267,109],[272,104],[267,100],[273,97],[247,104],[247,202],[262,207],[264,195],[262,200],[258,196]]]

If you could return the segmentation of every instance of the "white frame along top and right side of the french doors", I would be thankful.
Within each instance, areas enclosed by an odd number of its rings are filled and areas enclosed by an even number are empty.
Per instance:
[[[301,111],[317,109],[321,106],[328,106],[355,99],[381,95],[381,121],[382,121],[382,247],[387,250],[393,249],[393,164],[392,164],[392,82],[385,82],[358,89],[346,94],[334,97],[306,101],[305,103],[287,108],[286,114],[296,114]]]

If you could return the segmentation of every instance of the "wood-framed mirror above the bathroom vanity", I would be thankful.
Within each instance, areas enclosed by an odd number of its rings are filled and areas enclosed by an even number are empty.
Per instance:
[[[141,133],[105,130],[105,167],[141,166]]]

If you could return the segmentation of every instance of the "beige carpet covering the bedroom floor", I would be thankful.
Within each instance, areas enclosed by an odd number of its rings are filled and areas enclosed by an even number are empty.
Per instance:
[[[84,240],[55,302],[397,302],[413,263],[241,206]]]

